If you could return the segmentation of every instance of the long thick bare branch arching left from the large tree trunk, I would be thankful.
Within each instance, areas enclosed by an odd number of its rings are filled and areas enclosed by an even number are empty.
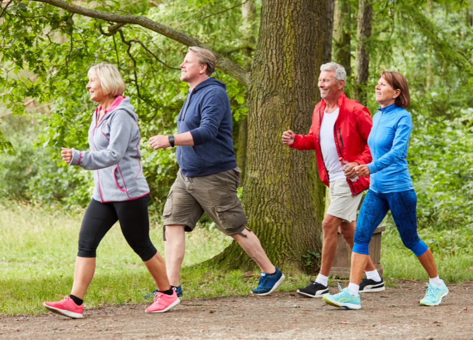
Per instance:
[[[29,1],[48,4],[54,7],[62,8],[63,10],[66,10],[71,13],[83,15],[90,18],[102,19],[108,22],[139,25],[153,32],[164,35],[165,37],[168,37],[172,40],[180,42],[183,45],[198,46],[198,47],[208,49],[215,55],[218,69],[220,69],[221,71],[223,71],[230,77],[233,77],[244,86],[246,87],[250,86],[250,74],[249,72],[246,72],[244,69],[242,69],[240,65],[225,58],[224,56],[218,54],[217,52],[212,51],[210,48],[208,48],[206,45],[204,45],[202,42],[200,42],[196,38],[191,37],[190,35],[185,34],[184,32],[181,32],[169,26],[155,22],[151,19],[148,19],[142,16],[121,15],[121,14],[92,10],[92,9],[76,6],[74,4],[69,4],[62,0],[29,0]]]

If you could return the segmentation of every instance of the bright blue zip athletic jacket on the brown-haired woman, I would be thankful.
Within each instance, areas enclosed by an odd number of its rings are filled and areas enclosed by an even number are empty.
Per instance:
[[[406,161],[412,130],[411,114],[396,104],[378,110],[368,137],[373,157],[367,164],[369,189],[378,193],[411,190],[414,187]]]

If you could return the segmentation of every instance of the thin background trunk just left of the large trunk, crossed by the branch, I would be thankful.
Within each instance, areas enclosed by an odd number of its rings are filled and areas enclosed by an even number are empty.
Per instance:
[[[256,44],[256,8],[253,4],[253,0],[249,0],[242,5],[242,18],[243,18],[243,52],[247,57],[247,64],[245,70],[250,72],[252,63],[252,53],[255,50]],[[248,103],[248,95],[245,98],[245,102]],[[237,163],[242,169],[240,174],[242,182],[240,185],[245,184],[246,174],[246,163],[247,163],[247,145],[248,145],[248,119],[247,117],[241,118],[238,124],[238,148],[237,148]]]

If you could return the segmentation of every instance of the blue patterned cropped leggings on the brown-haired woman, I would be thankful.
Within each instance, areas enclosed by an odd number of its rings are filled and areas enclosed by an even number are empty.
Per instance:
[[[417,235],[416,208],[414,189],[389,193],[368,190],[356,220],[353,252],[368,255],[368,244],[374,230],[390,210],[404,245],[416,256],[425,253],[428,247]]]

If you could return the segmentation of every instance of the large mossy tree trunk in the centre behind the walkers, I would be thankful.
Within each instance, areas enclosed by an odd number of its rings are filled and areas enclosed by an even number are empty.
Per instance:
[[[316,104],[317,77],[325,45],[324,0],[263,0],[261,28],[250,78],[248,155],[243,205],[247,226],[269,258],[291,273],[303,255],[321,252],[323,192],[314,151],[282,145],[284,130],[307,133]],[[252,269],[235,242],[211,262]]]

